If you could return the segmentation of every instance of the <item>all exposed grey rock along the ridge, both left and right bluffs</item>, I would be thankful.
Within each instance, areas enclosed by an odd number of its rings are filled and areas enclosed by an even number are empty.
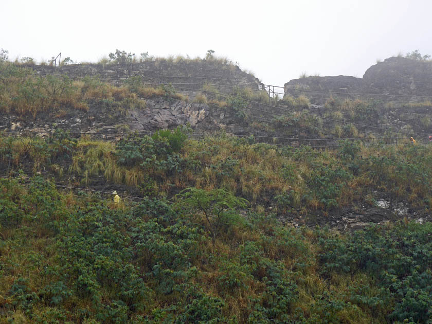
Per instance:
[[[59,113],[41,115],[35,119],[0,116],[0,130],[50,132],[57,125],[57,127],[72,132],[114,133],[127,130],[154,131],[189,123],[198,132],[225,129],[227,132],[238,135],[254,133],[264,136],[308,137],[311,139],[322,137],[320,131],[314,129],[313,121],[297,122],[298,116],[291,116],[287,113],[287,110],[293,111],[293,107],[284,101],[277,103],[268,101],[268,104],[256,104],[255,106],[249,103],[248,105],[252,108],[247,111],[250,117],[247,127],[239,125],[236,118],[233,118],[232,112],[228,113],[228,110],[221,109],[218,104],[208,100],[208,103],[195,102],[195,95],[203,89],[203,84],[211,85],[221,94],[232,93],[235,87],[247,86],[255,90],[263,87],[257,78],[241,71],[237,66],[217,60],[188,60],[176,63],[159,60],[135,64],[81,64],[60,68],[52,66],[32,66],[32,68],[40,75],[66,74],[77,79],[85,76],[98,76],[102,80],[115,84],[122,84],[124,80],[132,76],[137,76],[140,82],[149,84],[172,83],[178,92],[189,95],[189,101],[172,100],[172,98],[167,99],[163,96],[147,98],[146,104],[140,109],[121,107],[122,112],[110,106],[109,103],[95,101],[88,103],[88,112],[69,111],[62,107]],[[418,134],[428,136],[432,133],[432,114],[430,113],[432,104],[426,102],[418,105],[405,105],[407,102],[428,100],[427,97],[421,96],[432,95],[432,63],[430,62],[389,58],[370,67],[363,78],[337,76],[291,80],[285,84],[285,95],[307,96],[312,103],[309,106],[310,112],[332,119],[325,120],[325,123],[329,124],[328,129],[325,130],[326,138],[329,140],[334,139],[333,126],[337,123],[333,121],[340,118],[347,122],[374,127],[370,129],[367,126],[357,125],[359,131],[374,131],[382,128],[410,133],[415,137],[419,136]],[[211,98],[211,94],[206,93],[206,96],[208,99]],[[331,107],[323,105],[331,96],[333,98],[374,99],[374,101],[355,107],[355,111],[351,111],[352,116],[348,111],[342,110],[343,115],[340,117],[340,115],[334,115]],[[393,102],[397,103],[393,104]],[[117,107],[119,105],[122,103],[119,103]],[[307,107],[306,103],[299,108],[299,111]],[[289,131],[284,132],[281,129],[282,126],[278,123],[274,125],[272,121],[270,122],[272,128],[263,127],[262,120],[271,120],[275,116],[294,118],[294,121],[290,119],[284,124],[285,128],[290,128]],[[296,144],[296,142],[289,143]],[[302,143],[306,144],[306,142]]]

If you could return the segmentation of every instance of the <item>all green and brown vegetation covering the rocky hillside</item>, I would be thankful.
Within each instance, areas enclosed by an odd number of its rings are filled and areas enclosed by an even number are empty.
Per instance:
[[[106,64],[134,57],[116,51]],[[0,112],[21,117],[189,100],[139,77],[115,87],[35,75],[4,51],[0,61]],[[253,122],[250,101],[269,99],[247,88],[228,97],[209,84],[202,91],[194,101],[242,125]],[[375,192],[430,214],[431,147],[325,125],[306,97],[285,97],[281,107],[292,112],[273,119],[274,129],[316,134],[311,146],[197,139],[188,127],[113,141],[61,129],[0,133],[0,324],[432,322],[431,223],[405,218],[346,233],[318,226],[340,208],[375,206]],[[360,100],[330,98],[325,110],[333,121],[379,118]],[[365,140],[314,148],[324,127]],[[309,225],[280,221],[293,218]]]

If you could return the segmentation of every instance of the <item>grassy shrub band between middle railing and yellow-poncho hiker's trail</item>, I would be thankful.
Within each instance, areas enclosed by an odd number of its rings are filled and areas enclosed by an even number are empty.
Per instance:
[[[432,153],[409,140],[387,146],[340,141],[338,150],[277,148],[253,137],[228,135],[188,139],[188,129],[131,133],[118,142],[70,138],[58,131],[47,139],[0,137],[2,170],[27,173],[61,171],[75,186],[104,177],[141,195],[172,196],[196,187],[223,188],[242,196],[258,211],[327,211],[363,200],[375,188],[413,207],[428,210]]]

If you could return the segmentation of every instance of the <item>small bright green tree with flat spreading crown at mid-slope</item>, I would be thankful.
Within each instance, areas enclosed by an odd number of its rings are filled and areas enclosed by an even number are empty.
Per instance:
[[[175,209],[184,214],[204,215],[212,238],[223,230],[240,222],[239,208],[245,208],[247,200],[236,197],[225,189],[206,191],[197,188],[187,188],[176,195]]]

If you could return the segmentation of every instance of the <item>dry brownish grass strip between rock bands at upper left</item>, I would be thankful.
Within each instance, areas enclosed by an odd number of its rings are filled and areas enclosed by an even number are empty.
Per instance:
[[[66,75],[41,76],[31,68],[0,62],[0,112],[5,114],[35,118],[40,114],[61,115],[65,110],[87,112],[89,106],[110,107],[124,114],[128,109],[143,109],[145,99],[154,97],[188,101],[172,86],[149,86],[139,77],[114,86],[96,77],[72,80]]]

